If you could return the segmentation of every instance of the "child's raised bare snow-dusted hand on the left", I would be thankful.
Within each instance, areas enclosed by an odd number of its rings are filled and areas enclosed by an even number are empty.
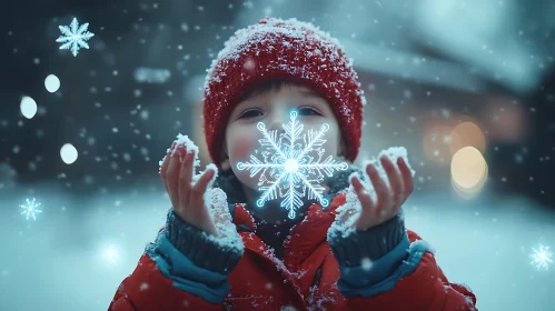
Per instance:
[[[216,235],[216,225],[205,202],[205,192],[216,171],[207,169],[196,182],[194,162],[196,150],[174,144],[160,168],[163,187],[168,191],[174,212],[187,223]]]

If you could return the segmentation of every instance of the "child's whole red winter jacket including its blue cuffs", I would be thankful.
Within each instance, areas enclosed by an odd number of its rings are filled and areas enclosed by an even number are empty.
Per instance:
[[[345,202],[339,193],[326,210],[311,204],[291,229],[283,260],[256,235],[240,204],[229,211],[244,250],[221,248],[170,211],[109,311],[477,310],[475,295],[449,283],[430,247],[405,230],[403,214],[365,232],[328,235]]]

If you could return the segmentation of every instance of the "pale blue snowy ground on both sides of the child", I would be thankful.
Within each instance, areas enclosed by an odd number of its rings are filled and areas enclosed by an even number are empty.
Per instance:
[[[26,221],[26,197],[0,192],[0,311],[107,310],[169,207],[147,187],[92,198],[36,187],[43,213]],[[554,213],[513,198],[450,193],[420,193],[405,207],[407,227],[436,248],[452,281],[473,289],[480,310],[555,310],[555,265],[537,271],[528,259],[539,242],[555,247]]]

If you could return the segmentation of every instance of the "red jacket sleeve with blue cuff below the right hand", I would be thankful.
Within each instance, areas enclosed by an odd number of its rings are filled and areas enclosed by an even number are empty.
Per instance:
[[[364,232],[328,233],[328,242],[351,310],[477,310],[472,291],[447,281],[432,247],[405,229],[403,212]]]

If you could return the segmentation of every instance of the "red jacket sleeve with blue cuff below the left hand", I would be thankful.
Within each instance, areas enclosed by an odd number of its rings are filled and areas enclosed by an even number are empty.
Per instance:
[[[228,275],[241,255],[242,243],[219,243],[170,210],[166,228],[147,245],[108,310],[222,310]]]

